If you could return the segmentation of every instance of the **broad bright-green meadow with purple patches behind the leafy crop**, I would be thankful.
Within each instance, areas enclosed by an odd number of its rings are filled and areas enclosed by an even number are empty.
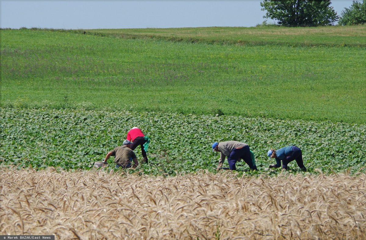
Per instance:
[[[1,104],[365,123],[366,49],[1,30]]]

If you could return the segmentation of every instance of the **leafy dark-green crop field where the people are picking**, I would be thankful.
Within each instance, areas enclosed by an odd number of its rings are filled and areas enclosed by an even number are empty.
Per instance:
[[[212,152],[211,145],[228,140],[249,144],[259,172],[274,163],[266,155],[270,148],[289,145],[300,147],[310,172],[351,168],[355,173],[366,165],[366,124],[83,109],[0,109],[1,157],[4,164],[19,167],[90,169],[108,151],[122,145],[134,126],[151,138],[150,164],[135,170],[145,174],[215,172],[220,156]],[[138,149],[135,152],[141,160]],[[295,161],[289,166],[299,170]],[[109,168],[113,167],[111,158]],[[238,169],[249,167],[240,162]],[[277,174],[280,169],[266,172]]]

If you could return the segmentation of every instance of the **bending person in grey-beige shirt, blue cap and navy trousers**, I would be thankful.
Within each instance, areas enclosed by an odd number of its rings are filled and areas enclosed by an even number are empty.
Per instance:
[[[236,162],[243,159],[251,170],[257,170],[255,166],[255,158],[253,152],[250,151],[248,144],[241,143],[237,141],[227,141],[227,142],[214,142],[212,144],[212,151],[221,152],[219,159],[219,166],[217,170],[223,166],[225,157],[228,157],[228,163],[230,170],[236,170]]]

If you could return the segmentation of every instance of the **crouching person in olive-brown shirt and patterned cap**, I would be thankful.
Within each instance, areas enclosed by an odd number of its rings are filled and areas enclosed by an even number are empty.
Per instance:
[[[123,141],[123,146],[116,147],[112,151],[108,152],[107,156],[102,163],[107,163],[107,160],[110,156],[115,156],[116,167],[129,168],[131,167],[132,160],[134,162],[133,168],[138,166],[138,161],[136,158],[136,154],[130,148],[131,142],[128,140]]]

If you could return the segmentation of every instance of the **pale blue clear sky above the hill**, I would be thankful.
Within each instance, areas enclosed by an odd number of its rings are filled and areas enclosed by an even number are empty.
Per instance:
[[[361,0],[362,1],[362,0]],[[0,0],[1,28],[254,27],[260,0],[16,1]],[[333,0],[338,15],[352,0]],[[275,23],[268,20],[267,23]]]

